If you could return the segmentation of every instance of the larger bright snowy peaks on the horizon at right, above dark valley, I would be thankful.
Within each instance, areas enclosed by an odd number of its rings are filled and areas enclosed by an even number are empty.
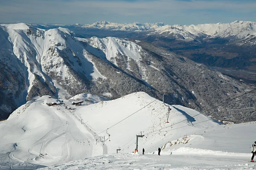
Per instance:
[[[256,23],[235,21],[233,23],[200,24],[190,26],[162,26],[152,30],[150,34],[164,34],[180,39],[197,39],[200,37],[242,39],[256,34]]]

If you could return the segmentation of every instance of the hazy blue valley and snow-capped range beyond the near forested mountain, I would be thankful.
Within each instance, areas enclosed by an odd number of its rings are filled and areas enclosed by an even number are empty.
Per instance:
[[[59,25],[38,28],[58,28]],[[214,63],[214,70],[256,84],[256,23],[234,21],[200,25],[164,25],[163,23],[119,24],[98,21],[86,25],[61,26],[68,28],[76,37],[119,37],[150,42],[169,49],[195,62],[205,65]],[[218,61],[218,62],[217,62]],[[227,71],[228,70],[228,71]]]

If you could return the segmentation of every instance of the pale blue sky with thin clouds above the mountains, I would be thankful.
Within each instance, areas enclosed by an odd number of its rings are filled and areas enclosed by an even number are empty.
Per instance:
[[[256,0],[0,0],[0,23],[256,22]]]

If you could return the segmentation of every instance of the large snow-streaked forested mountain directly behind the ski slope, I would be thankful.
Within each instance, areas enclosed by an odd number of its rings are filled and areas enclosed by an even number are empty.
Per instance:
[[[0,25],[0,36],[2,118],[42,95],[69,99],[90,93],[116,99],[144,91],[161,99],[168,92],[169,104],[206,111],[252,89],[142,41],[76,38],[67,28],[44,30],[23,23]],[[250,93],[206,114],[255,120],[255,98]]]

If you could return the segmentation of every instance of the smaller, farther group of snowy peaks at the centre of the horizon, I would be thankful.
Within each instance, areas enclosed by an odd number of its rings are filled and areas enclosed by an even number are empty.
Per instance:
[[[83,27],[85,27],[85,28],[111,29],[111,30],[119,30],[119,31],[144,31],[144,30],[150,30],[150,29],[158,28],[160,26],[164,26],[164,23],[119,24],[119,23],[111,23],[111,22],[107,22],[107,21],[97,21],[93,24],[85,24]]]

